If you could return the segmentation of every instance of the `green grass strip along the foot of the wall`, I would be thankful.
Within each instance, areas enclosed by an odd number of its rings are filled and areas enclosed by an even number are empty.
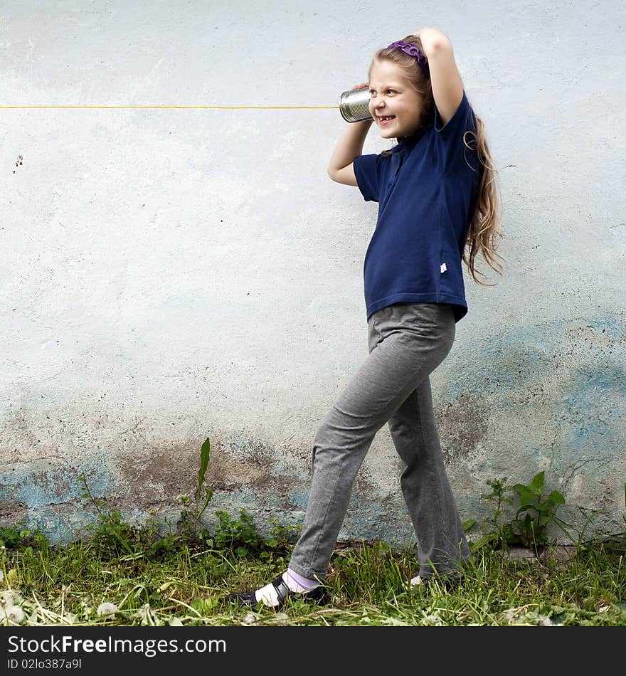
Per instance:
[[[230,522],[230,532],[233,532]],[[258,588],[284,571],[293,534],[262,539],[253,530],[221,544],[216,534],[157,535],[102,517],[90,539],[51,546],[41,534],[2,529],[0,621],[6,625],[625,625],[622,534],[578,546],[566,564],[513,561],[494,544],[472,544],[460,586],[410,591],[417,549],[361,542],[336,549],[331,605],[238,608],[231,591]],[[219,533],[218,533],[219,534]],[[1,533],[0,533],[1,535]],[[282,535],[282,539],[281,536]],[[236,552],[236,553],[235,553]],[[113,614],[98,614],[113,603]],[[12,620],[6,618],[5,610]]]

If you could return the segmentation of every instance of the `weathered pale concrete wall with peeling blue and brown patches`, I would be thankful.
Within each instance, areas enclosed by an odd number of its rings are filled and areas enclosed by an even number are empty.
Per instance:
[[[380,46],[435,26],[499,167],[504,278],[432,376],[463,519],[486,480],[623,529],[623,3],[0,2],[0,521],[74,537],[93,495],[297,523],[319,422],[367,354],[376,204],[326,168]],[[364,152],[390,146],[372,129]],[[21,157],[21,160],[18,159]],[[485,269],[485,266],[482,266]],[[387,428],[341,538],[410,542]]]

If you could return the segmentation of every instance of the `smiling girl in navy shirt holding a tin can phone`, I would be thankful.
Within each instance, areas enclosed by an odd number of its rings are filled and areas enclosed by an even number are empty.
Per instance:
[[[379,49],[367,85],[371,120],[346,127],[328,173],[378,202],[364,263],[369,356],[317,430],[304,524],[281,576],[230,601],[278,608],[290,596],[326,601],[324,577],[352,484],[386,423],[402,461],[400,487],[418,539],[418,574],[446,586],[470,559],[447,480],[430,374],[467,314],[462,262],[496,264],[499,200],[484,127],[470,107],[450,40],[434,28]],[[361,154],[376,122],[390,150]],[[467,249],[467,251],[465,250]],[[482,273],[479,273],[482,275]],[[484,276],[484,275],[482,275]]]

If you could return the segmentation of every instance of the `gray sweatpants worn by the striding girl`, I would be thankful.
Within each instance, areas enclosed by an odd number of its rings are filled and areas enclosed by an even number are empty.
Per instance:
[[[445,473],[429,378],[454,339],[447,304],[399,303],[368,319],[369,356],[314,438],[307,513],[290,569],[310,579],[326,576],[354,477],[385,423],[402,460],[400,487],[418,539],[420,576],[457,571],[470,558]]]

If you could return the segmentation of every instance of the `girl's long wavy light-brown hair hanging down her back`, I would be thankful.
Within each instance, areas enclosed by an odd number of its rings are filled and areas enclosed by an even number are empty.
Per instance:
[[[420,38],[417,36],[406,36],[403,41],[415,45],[424,53]],[[368,82],[371,79],[371,69],[373,65],[381,60],[388,60],[398,65],[403,71],[406,80],[413,86],[420,96],[423,97],[423,106],[420,113],[420,127],[416,133],[426,127],[432,127],[435,124],[435,100],[433,98],[433,88],[430,84],[430,78],[425,75],[422,68],[413,56],[405,54],[400,49],[379,49],[373,56],[372,63],[368,72]],[[485,284],[481,282],[476,275],[484,277],[485,275],[475,268],[475,259],[477,253],[480,253],[492,270],[502,275],[502,265],[497,263],[497,258],[504,260],[497,253],[498,241],[502,239],[501,226],[501,200],[497,189],[497,169],[489,153],[487,138],[485,136],[484,124],[478,115],[474,112],[476,119],[476,132],[467,130],[463,134],[463,143],[467,149],[476,152],[479,163],[482,165],[478,186],[478,195],[474,213],[470,219],[470,226],[467,228],[467,238],[463,250],[462,260],[470,270],[472,278],[477,284],[483,286],[495,286],[494,284]],[[469,139],[469,141],[468,141]],[[386,150],[383,155],[391,154],[391,150]],[[467,162],[467,160],[466,160]],[[469,163],[468,163],[469,164]],[[471,165],[470,165],[471,166]],[[472,167],[472,169],[474,169]],[[476,171],[476,169],[474,169]]]

